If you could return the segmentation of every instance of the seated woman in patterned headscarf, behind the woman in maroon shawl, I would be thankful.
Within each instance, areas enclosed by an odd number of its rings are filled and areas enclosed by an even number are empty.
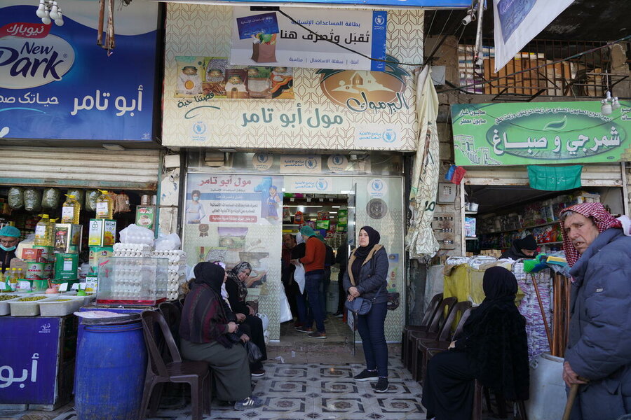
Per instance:
[[[263,360],[267,360],[267,351],[265,348],[265,337],[263,336],[263,321],[256,316],[254,309],[245,303],[247,298],[247,286],[245,281],[252,272],[252,266],[249,262],[239,262],[228,272],[226,280],[226,291],[228,292],[228,302],[234,312],[237,321],[245,326],[246,334],[250,336],[252,342],[256,344],[263,358],[250,365],[252,376],[263,376]]]

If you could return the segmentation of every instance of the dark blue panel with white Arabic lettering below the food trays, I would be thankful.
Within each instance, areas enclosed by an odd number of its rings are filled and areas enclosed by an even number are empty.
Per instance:
[[[61,318],[0,318],[0,404],[53,404]]]

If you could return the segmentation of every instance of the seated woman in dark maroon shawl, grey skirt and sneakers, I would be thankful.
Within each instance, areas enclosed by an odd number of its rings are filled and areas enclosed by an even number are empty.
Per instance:
[[[226,272],[212,262],[198,263],[194,272],[193,288],[186,295],[179,324],[182,356],[210,364],[220,400],[236,401],[234,408],[238,410],[260,407],[262,402],[252,396],[245,348],[227,337],[238,326],[229,321],[222,303]]]

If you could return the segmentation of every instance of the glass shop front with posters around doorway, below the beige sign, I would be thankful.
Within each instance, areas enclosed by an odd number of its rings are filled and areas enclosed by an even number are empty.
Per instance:
[[[189,266],[250,262],[248,300],[268,316],[270,339],[282,340],[283,232],[311,224],[337,249],[356,246],[357,230],[370,225],[381,232],[390,262],[386,339],[398,339],[405,302],[402,155],[367,153],[359,169],[346,155],[235,153],[231,168],[212,171],[196,166],[203,154],[189,153],[186,175],[182,240]],[[334,312],[337,273],[331,280],[328,307]]]

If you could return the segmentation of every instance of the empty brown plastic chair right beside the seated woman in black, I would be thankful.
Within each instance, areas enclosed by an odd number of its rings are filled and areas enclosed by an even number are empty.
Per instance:
[[[416,366],[412,370],[412,377],[423,383],[425,372],[427,371],[427,363],[431,356],[428,356],[428,349],[444,351],[449,349],[452,344],[453,337],[456,337],[462,331],[464,323],[471,314],[471,302],[468,300],[454,304],[452,311],[447,316],[447,321],[442,325],[442,329],[438,333],[437,339],[418,339],[416,340]],[[460,320],[456,324],[456,316],[461,314]],[[455,325],[454,325],[455,324]],[[452,328],[454,334],[452,335]]]

